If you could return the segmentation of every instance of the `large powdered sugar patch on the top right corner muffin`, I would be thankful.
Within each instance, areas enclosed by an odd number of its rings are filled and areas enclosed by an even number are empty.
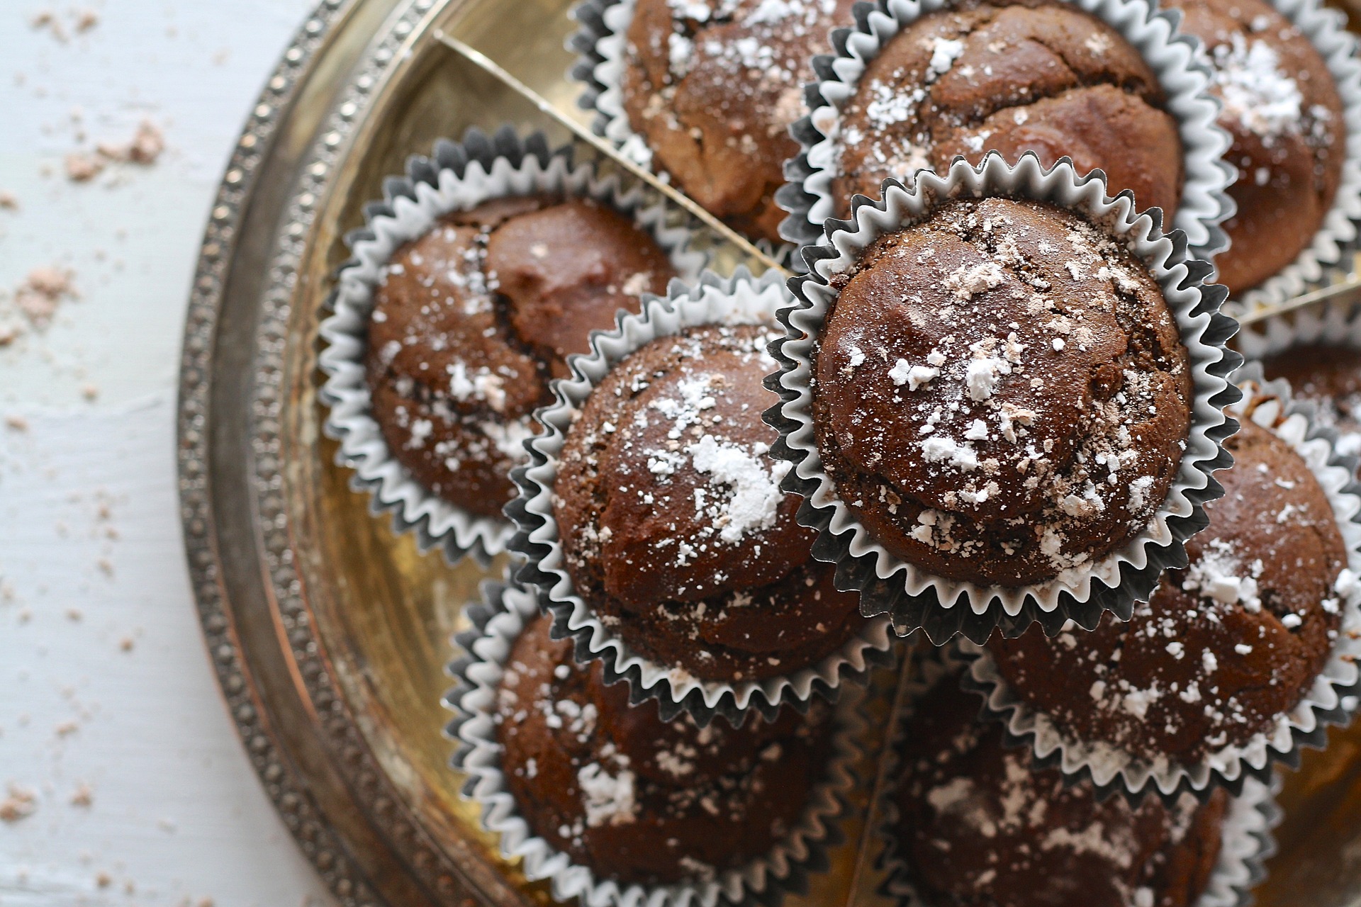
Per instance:
[[[1275,48],[1234,34],[1214,49],[1214,84],[1224,99],[1224,117],[1236,118],[1262,137],[1298,129],[1304,102],[1294,79],[1281,69]]]

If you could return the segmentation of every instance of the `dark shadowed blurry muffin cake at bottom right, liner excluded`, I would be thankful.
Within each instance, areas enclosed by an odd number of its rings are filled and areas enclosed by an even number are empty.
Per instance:
[[[1097,801],[1089,783],[1032,770],[945,679],[906,721],[896,835],[932,907],[1190,907],[1219,854],[1222,790],[1172,808]]]

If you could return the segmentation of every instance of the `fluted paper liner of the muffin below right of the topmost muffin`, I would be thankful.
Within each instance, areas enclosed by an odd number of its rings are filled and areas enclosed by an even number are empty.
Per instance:
[[[1256,363],[1241,369],[1234,379],[1248,398],[1267,397],[1248,417],[1274,431],[1300,454],[1332,504],[1346,543],[1347,566],[1335,585],[1342,600],[1342,624],[1323,672],[1270,730],[1245,744],[1214,751],[1196,764],[1180,764],[1151,761],[1108,742],[1068,737],[1044,713],[1015,695],[991,653],[961,642],[961,654],[970,660],[962,683],[983,696],[984,710],[1006,726],[1009,740],[1032,751],[1037,764],[1055,766],[1064,775],[1090,779],[1102,790],[1120,790],[1131,798],[1151,790],[1164,798],[1184,790],[1207,797],[1217,786],[1237,795],[1248,779],[1270,782],[1273,763],[1297,768],[1301,748],[1322,749],[1328,725],[1350,722],[1356,708],[1354,688],[1361,680],[1356,665],[1361,657],[1361,485],[1353,479],[1357,460],[1337,451],[1337,432],[1315,422],[1312,403],[1292,400],[1285,381],[1263,381]],[[1240,403],[1234,409],[1244,415],[1244,405]]]

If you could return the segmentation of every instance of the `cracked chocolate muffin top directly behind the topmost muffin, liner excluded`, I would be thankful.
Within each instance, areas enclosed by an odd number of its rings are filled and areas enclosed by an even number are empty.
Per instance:
[[[1157,78],[1119,31],[1056,0],[960,3],[921,16],[870,61],[837,126],[841,216],[887,177],[945,173],[992,150],[1044,166],[1067,155],[1101,169],[1109,192],[1170,223],[1181,197],[1181,139]]]

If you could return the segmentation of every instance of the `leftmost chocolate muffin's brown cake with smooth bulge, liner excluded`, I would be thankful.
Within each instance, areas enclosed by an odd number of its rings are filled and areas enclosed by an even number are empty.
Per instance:
[[[651,235],[587,199],[444,216],[396,250],[374,292],[365,371],[388,447],[436,495],[501,515],[550,378],[672,276]]]

